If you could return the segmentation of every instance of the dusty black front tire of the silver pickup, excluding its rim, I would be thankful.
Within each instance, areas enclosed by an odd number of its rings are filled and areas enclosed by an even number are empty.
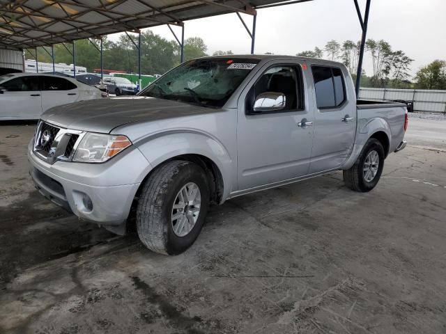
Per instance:
[[[178,237],[172,226],[172,209],[178,192],[193,182],[201,193],[197,221],[188,234]],[[173,160],[148,177],[137,205],[137,231],[141,242],[157,253],[183,253],[197,239],[209,207],[209,187],[204,170],[190,161]]]

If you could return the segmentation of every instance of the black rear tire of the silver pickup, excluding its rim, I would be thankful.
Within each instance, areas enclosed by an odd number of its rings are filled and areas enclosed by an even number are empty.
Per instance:
[[[378,170],[373,180],[367,181],[364,177],[364,162],[371,151],[376,151],[379,157]],[[365,193],[374,189],[383,173],[385,153],[383,145],[375,138],[370,138],[362,148],[355,164],[348,170],[343,171],[344,183],[354,191]]]

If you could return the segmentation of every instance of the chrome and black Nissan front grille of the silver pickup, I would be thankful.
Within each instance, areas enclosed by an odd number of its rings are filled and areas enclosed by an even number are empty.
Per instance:
[[[71,161],[77,143],[84,132],[56,127],[40,121],[34,139],[33,151],[49,164],[57,160]]]

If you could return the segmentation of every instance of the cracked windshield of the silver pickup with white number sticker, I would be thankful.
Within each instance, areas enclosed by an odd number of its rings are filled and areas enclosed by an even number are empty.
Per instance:
[[[259,63],[254,58],[203,58],[171,70],[139,95],[221,107]]]

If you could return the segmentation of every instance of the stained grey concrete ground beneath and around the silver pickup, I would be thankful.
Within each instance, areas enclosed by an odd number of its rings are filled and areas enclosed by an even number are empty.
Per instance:
[[[213,207],[151,253],[34,190],[0,125],[0,333],[445,333],[446,119],[411,115],[370,193],[340,172]]]

